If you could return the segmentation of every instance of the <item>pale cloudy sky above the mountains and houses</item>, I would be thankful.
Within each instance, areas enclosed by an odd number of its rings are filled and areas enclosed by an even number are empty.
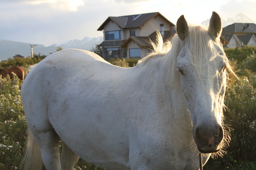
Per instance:
[[[175,25],[181,15],[198,25],[212,11],[256,21],[256,0],[0,0],[0,39],[49,46],[103,37],[97,29],[109,16],[160,12]]]

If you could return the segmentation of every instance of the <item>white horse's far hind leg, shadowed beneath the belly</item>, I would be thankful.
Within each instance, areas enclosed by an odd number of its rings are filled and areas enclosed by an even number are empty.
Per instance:
[[[62,152],[60,158],[62,170],[72,170],[78,159],[79,156],[70,150],[65,143],[62,143]]]

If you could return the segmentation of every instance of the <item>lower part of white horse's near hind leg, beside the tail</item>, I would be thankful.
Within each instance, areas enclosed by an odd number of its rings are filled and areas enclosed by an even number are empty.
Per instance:
[[[47,170],[61,170],[60,166],[60,137],[54,129],[37,132],[34,139],[38,144],[42,161]]]

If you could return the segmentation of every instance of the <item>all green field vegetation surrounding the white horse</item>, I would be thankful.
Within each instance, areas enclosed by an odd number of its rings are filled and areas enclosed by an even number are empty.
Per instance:
[[[256,170],[256,47],[225,50],[239,79],[229,74],[225,96],[224,123],[232,130],[230,147],[223,157],[210,159],[205,170]],[[0,67],[21,66],[24,69],[36,64],[46,56],[9,59]],[[116,59],[111,63],[130,67],[136,59]],[[27,71],[26,71],[27,72]],[[24,145],[26,142],[26,118],[20,98],[22,81],[0,78],[0,169],[22,169]],[[61,143],[60,143],[61,145]],[[199,160],[198,160],[199,161]],[[79,160],[75,170],[102,170]]]

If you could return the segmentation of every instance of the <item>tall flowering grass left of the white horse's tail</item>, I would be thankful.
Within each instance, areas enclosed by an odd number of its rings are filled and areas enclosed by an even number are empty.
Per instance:
[[[26,119],[20,98],[21,82],[0,78],[0,169],[20,167],[26,139]]]

